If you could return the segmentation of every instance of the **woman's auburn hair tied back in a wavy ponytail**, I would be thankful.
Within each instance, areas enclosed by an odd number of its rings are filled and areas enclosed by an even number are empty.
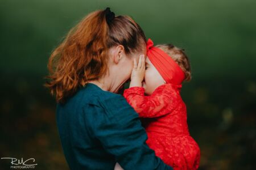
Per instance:
[[[64,103],[79,87],[108,70],[108,52],[123,45],[127,54],[142,49],[144,33],[128,16],[114,16],[109,8],[88,14],[65,36],[49,57],[45,86]]]

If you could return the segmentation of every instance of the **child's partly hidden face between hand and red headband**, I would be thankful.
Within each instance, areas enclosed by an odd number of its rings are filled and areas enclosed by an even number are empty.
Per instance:
[[[155,66],[152,65],[151,61],[147,57],[144,82],[142,82],[142,87],[145,88],[145,94],[151,95],[152,92],[154,92],[158,86],[161,86],[164,83],[165,83],[164,79],[162,78],[158,70],[156,70]]]

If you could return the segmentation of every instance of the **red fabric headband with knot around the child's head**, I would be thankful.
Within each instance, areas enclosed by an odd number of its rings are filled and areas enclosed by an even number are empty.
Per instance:
[[[156,48],[151,39],[147,41],[147,57],[166,83],[179,85],[183,82],[185,78],[183,70],[168,54]]]

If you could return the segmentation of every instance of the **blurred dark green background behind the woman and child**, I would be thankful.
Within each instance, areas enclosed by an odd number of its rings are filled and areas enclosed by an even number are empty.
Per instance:
[[[0,156],[68,169],[43,87],[47,61],[86,14],[130,15],[155,44],[184,48],[192,81],[181,95],[200,169],[256,168],[256,1],[0,0]],[[10,169],[0,160],[0,169]]]

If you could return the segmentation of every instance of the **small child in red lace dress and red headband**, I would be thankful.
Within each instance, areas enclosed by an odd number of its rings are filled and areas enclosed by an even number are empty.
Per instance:
[[[153,45],[149,39],[146,70],[144,57],[138,65],[134,61],[130,88],[123,95],[142,118],[146,143],[155,154],[174,169],[197,169],[200,148],[189,135],[187,110],[180,96],[181,83],[191,79],[188,58],[173,45]]]

